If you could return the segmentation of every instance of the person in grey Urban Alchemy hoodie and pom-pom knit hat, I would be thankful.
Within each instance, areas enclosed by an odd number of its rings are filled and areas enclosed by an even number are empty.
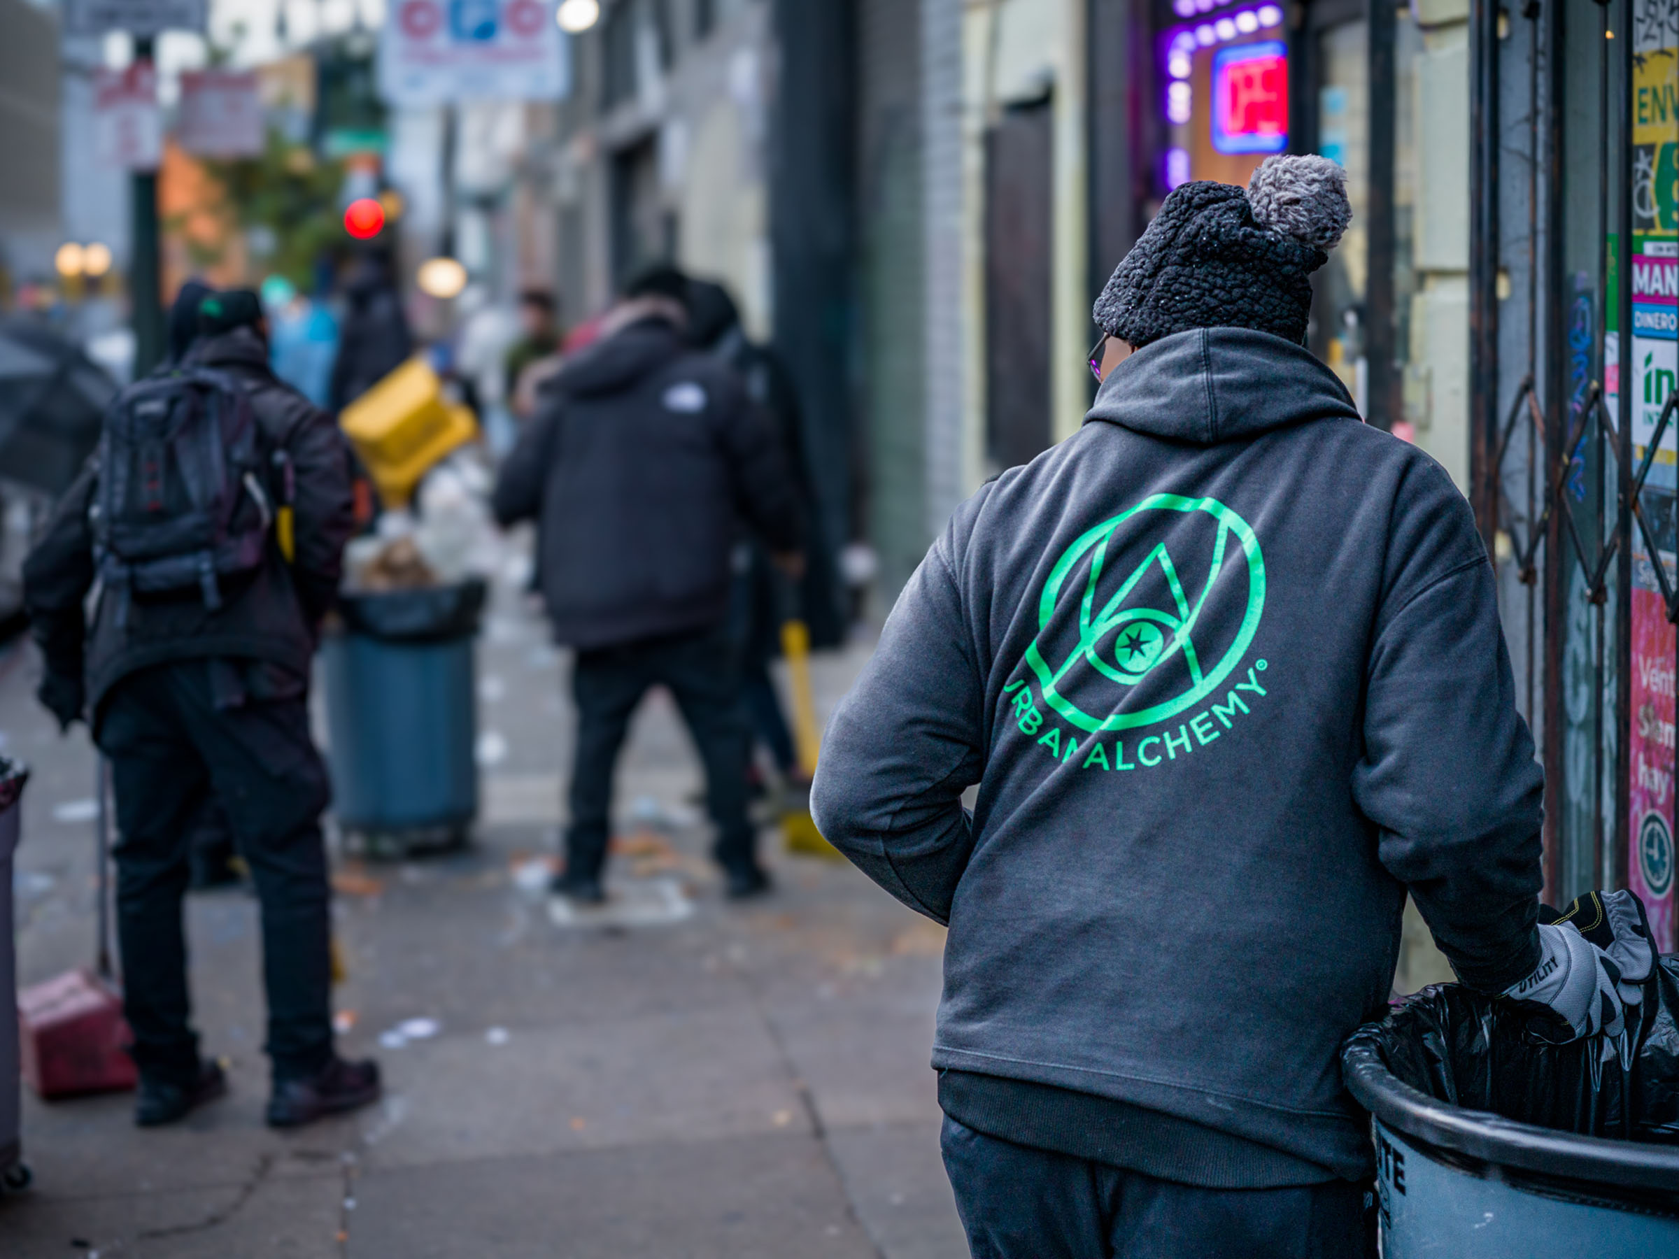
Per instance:
[[[1567,1037],[1630,999],[1538,922],[1474,514],[1305,347],[1343,180],[1167,196],[1096,302],[1085,425],[955,510],[828,729],[821,833],[949,925],[975,1256],[1373,1256],[1340,1047],[1387,1012],[1407,891],[1464,984]]]

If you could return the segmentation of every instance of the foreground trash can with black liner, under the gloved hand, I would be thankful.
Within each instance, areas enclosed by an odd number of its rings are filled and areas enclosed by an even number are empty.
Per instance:
[[[1456,984],[1355,1032],[1342,1066],[1372,1113],[1383,1259],[1679,1256],[1676,994],[1666,957],[1630,1069],[1598,1039],[1536,1044],[1519,1009]]]

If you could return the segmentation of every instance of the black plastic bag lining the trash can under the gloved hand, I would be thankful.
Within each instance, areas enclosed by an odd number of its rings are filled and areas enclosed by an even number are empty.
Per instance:
[[[1347,1051],[1373,1049],[1400,1081],[1466,1110],[1580,1136],[1679,1147],[1679,955],[1661,957],[1627,1007],[1629,1064],[1603,1039],[1545,1044],[1531,1011],[1461,984],[1436,984]]]

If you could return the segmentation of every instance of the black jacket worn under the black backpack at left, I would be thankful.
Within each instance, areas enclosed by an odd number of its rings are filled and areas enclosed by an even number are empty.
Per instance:
[[[230,584],[230,598],[215,611],[191,591],[134,598],[124,621],[118,601],[101,598],[89,628],[84,604],[94,584],[94,552],[87,509],[99,478],[96,455],[59,500],[24,564],[24,598],[47,663],[44,698],[54,697],[49,707],[60,720],[82,715],[82,698],[87,712],[97,712],[121,678],[166,660],[262,660],[309,677],[316,631],[332,604],[344,542],[354,532],[349,448],[327,415],[275,379],[254,329],[200,341],[188,361],[238,378],[250,389],[269,448],[290,455],[296,559],[287,564],[270,546],[269,562]]]

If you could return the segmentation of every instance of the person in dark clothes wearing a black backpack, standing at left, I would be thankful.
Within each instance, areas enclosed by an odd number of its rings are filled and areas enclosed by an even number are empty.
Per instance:
[[[40,698],[65,729],[87,720],[111,762],[134,1121],[227,1088],[190,1024],[181,932],[191,823],[213,796],[262,905],[267,1121],[287,1128],[379,1096],[378,1066],[332,1044],[329,787],[306,702],[353,530],[349,455],[269,369],[254,292],[205,297],[200,332],[176,369],[112,401],[24,586]]]

